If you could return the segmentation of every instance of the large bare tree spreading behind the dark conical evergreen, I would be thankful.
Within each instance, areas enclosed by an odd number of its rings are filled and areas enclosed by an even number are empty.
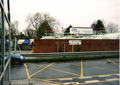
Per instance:
[[[60,27],[59,20],[56,20],[49,13],[28,14],[26,18],[26,22],[28,22],[28,26],[30,27],[30,29],[35,29],[36,33],[40,25],[45,21],[48,22],[52,30],[58,29]]]

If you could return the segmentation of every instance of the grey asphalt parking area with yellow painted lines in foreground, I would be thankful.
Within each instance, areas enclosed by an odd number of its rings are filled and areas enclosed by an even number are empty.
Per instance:
[[[34,79],[52,84],[118,85],[119,59],[24,63],[11,67],[11,79]]]

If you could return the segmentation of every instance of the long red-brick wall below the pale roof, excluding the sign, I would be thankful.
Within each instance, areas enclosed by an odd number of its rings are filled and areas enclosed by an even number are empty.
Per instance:
[[[72,45],[69,45],[69,39],[35,39],[34,53],[55,53],[57,52],[57,42],[59,42],[59,52],[64,52],[63,42],[68,43],[65,45],[65,52],[72,52]],[[83,39],[81,42],[81,45],[74,45],[74,52],[119,50],[119,40]]]

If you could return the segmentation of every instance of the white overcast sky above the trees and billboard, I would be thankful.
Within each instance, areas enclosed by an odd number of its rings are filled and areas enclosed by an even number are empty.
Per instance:
[[[119,23],[119,0],[10,0],[11,22],[18,20],[19,31],[26,28],[28,13],[49,12],[63,28],[70,24],[90,27],[98,19]]]

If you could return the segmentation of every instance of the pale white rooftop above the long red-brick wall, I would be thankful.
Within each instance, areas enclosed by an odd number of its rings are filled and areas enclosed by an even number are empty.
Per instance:
[[[120,33],[109,33],[100,35],[76,35],[76,36],[64,36],[63,34],[58,34],[56,36],[44,36],[41,39],[119,39]]]

